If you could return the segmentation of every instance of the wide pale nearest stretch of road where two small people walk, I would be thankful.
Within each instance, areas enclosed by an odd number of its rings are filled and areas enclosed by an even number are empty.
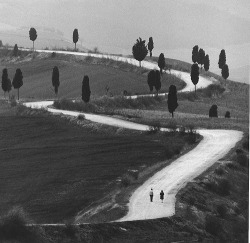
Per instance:
[[[128,214],[118,221],[163,218],[174,215],[177,192],[216,161],[223,158],[243,137],[232,130],[198,130],[203,140],[190,152],[181,156],[140,186],[130,198]],[[153,188],[154,200],[149,191]],[[160,191],[165,193],[163,203]]]

